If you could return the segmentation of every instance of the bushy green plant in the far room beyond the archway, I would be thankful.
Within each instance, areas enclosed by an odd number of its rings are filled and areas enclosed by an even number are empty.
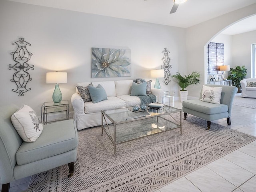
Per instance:
[[[230,75],[228,76],[228,79],[232,80],[232,85],[236,86],[238,88],[238,93],[242,92],[240,81],[243,80],[246,76],[247,69],[245,66],[236,66],[235,68],[230,68]]]

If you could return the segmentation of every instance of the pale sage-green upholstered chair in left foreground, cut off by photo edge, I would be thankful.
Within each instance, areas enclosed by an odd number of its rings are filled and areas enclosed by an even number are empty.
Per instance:
[[[44,125],[35,142],[24,142],[12,125],[11,116],[19,108],[0,106],[0,184],[8,192],[10,182],[68,164],[74,172],[78,134],[74,120]]]

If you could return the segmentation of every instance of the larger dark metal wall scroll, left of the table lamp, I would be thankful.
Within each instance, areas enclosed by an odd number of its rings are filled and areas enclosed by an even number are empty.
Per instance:
[[[29,81],[32,80],[28,73],[28,70],[34,70],[34,65],[29,65],[28,61],[32,53],[28,52],[27,45],[31,46],[30,43],[24,41],[24,38],[19,38],[18,41],[14,42],[13,45],[17,46],[15,52],[12,52],[13,60],[15,64],[9,65],[9,70],[14,69],[16,72],[13,74],[11,82],[15,82],[17,88],[12,89],[13,92],[19,94],[19,96],[24,96],[24,93],[31,90],[31,88],[26,88]]]

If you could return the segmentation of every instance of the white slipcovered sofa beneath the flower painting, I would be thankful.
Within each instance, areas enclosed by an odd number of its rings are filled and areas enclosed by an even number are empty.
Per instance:
[[[74,108],[74,120],[78,130],[101,125],[101,110],[110,110],[121,107],[140,105],[140,98],[130,96],[133,80],[102,81],[92,82],[93,86],[101,84],[108,96],[107,100],[98,103],[84,102],[78,89],[71,97]],[[77,86],[88,86],[90,82],[82,82]],[[156,96],[156,101],[162,101],[163,90],[151,88],[152,94]]]

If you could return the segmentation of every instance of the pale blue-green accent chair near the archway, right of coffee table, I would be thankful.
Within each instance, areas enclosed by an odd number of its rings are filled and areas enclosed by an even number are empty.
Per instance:
[[[182,102],[182,111],[184,112],[184,119],[186,120],[187,114],[191,114],[207,120],[207,130],[210,129],[211,121],[222,118],[227,118],[228,125],[231,125],[231,111],[234,96],[238,90],[235,86],[213,85],[206,84],[208,87],[222,87],[220,104],[204,102],[202,99],[202,90],[200,99],[187,100]]]

